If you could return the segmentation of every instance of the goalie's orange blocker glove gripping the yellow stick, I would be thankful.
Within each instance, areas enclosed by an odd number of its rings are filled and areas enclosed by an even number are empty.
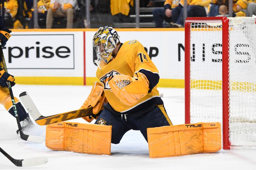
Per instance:
[[[84,104],[80,107],[80,109],[84,109],[86,107],[92,106],[92,115],[82,117],[87,122],[92,122],[93,119],[97,119],[100,115],[100,111],[103,110],[103,104],[107,103],[107,99],[105,97],[103,86],[95,81],[92,86],[92,91],[89,94],[88,98],[85,100]]]

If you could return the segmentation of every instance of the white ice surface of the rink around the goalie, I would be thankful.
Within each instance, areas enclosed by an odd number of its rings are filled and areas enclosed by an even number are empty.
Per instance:
[[[184,89],[158,88],[164,93],[164,105],[173,124],[184,123]],[[28,92],[42,115],[53,115],[78,109],[91,91],[91,86],[50,86],[50,85],[15,85],[16,97],[21,92]],[[0,153],[0,169],[30,170],[95,170],[95,169],[256,169],[255,148],[233,148],[216,153],[201,153],[180,157],[150,159],[148,144],[140,131],[128,131],[120,144],[111,145],[112,155],[89,155],[67,151],[52,151],[45,144],[24,141],[16,134],[17,124],[3,106],[0,106],[0,147],[15,159],[38,156],[48,157],[48,162],[39,166],[16,167]],[[83,122],[81,118],[71,122]],[[30,135],[45,137],[45,126],[36,127],[27,132]]]

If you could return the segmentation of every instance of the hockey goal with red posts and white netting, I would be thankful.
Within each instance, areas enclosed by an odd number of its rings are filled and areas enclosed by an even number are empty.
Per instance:
[[[222,122],[223,149],[256,145],[256,19],[187,18],[185,122]]]

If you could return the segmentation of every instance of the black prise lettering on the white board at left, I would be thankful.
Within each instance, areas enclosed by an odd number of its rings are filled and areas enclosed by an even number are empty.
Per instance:
[[[4,47],[3,49],[5,49]],[[25,53],[25,58],[36,56],[36,58],[52,58],[57,55],[60,58],[67,58],[70,56],[70,49],[66,46],[60,46],[53,49],[51,46],[40,47],[40,42],[36,41],[36,45],[32,47],[25,47],[22,49],[20,47],[8,47],[8,62],[12,63],[13,58],[19,58]]]

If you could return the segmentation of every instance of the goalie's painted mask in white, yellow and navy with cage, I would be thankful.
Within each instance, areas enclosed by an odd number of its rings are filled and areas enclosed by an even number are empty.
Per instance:
[[[92,41],[98,58],[95,63],[101,69],[113,58],[112,52],[119,42],[119,35],[114,28],[104,26],[98,29]]]

